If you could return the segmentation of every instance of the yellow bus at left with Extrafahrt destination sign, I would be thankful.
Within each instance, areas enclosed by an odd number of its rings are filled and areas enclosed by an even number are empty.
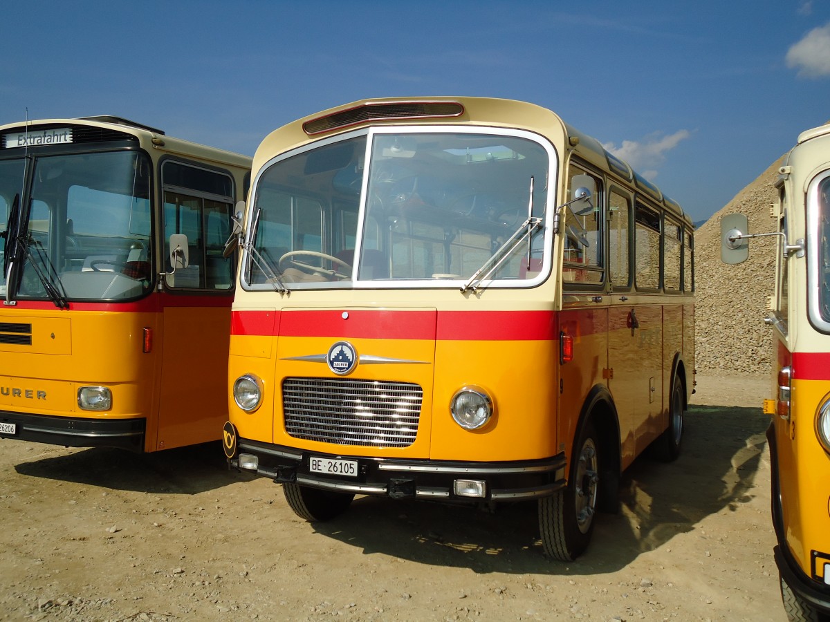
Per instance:
[[[219,439],[250,168],[116,117],[0,126],[0,438]]]

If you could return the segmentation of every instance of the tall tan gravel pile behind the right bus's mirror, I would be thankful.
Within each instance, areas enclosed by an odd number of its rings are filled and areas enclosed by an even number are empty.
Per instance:
[[[720,261],[720,220],[740,212],[750,233],[775,230],[769,216],[777,202],[775,179],[784,156],[740,191],[695,233],[696,361],[701,373],[766,375],[772,370],[772,329],[764,324],[774,292],[777,237],[749,242],[749,260]]]

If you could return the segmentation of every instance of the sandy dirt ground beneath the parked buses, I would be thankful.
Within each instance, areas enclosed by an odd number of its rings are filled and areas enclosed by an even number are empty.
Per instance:
[[[588,552],[544,558],[535,506],[358,498],[312,525],[221,447],[0,441],[2,620],[786,620],[767,380],[699,377],[673,464],[639,459]]]

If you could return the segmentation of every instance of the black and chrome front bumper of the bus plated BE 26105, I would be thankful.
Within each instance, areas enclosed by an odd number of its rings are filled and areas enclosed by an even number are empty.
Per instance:
[[[388,459],[300,451],[242,438],[237,438],[235,449],[228,460],[237,469],[256,472],[278,483],[341,493],[464,503],[501,502],[547,497],[566,484],[564,454],[511,462]],[[311,458],[355,461],[356,474],[349,477],[312,473]],[[247,466],[240,466],[241,463]],[[481,484],[481,493],[458,494],[458,482]]]

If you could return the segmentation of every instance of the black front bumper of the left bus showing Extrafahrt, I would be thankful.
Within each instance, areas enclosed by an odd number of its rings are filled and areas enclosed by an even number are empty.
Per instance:
[[[0,432],[0,439],[30,440],[66,447],[116,447],[144,451],[144,418],[86,419],[0,411],[0,423],[15,427],[14,434]]]

